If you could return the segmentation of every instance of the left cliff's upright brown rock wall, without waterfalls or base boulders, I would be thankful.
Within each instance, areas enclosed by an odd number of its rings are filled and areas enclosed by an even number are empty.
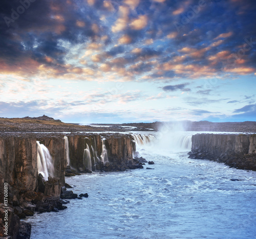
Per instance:
[[[135,142],[131,135],[5,133],[0,136],[0,189],[3,192],[4,182],[9,184],[10,201],[23,201],[27,191],[38,192],[36,141],[44,144],[49,150],[55,169],[54,177],[59,178],[61,186],[65,186],[67,156],[64,136],[68,136],[69,139],[70,164],[73,169],[84,168],[83,152],[87,144],[90,149],[93,148],[95,150],[98,160],[100,160],[102,139],[104,139],[107,150],[108,163],[102,164],[99,170],[122,171],[133,168],[127,166],[134,164],[133,151],[135,150]],[[93,158],[95,156],[93,151],[90,150],[90,153]]]

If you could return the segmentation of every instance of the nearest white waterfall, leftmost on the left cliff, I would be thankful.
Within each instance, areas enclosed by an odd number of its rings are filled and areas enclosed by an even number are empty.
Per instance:
[[[52,157],[49,150],[41,145],[39,141],[36,141],[37,144],[37,171],[38,175],[41,174],[46,180],[48,177],[54,177],[54,166]]]

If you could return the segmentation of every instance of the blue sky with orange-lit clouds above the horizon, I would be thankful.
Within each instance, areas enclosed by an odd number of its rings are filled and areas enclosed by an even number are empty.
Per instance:
[[[1,0],[0,117],[256,121],[253,0]]]

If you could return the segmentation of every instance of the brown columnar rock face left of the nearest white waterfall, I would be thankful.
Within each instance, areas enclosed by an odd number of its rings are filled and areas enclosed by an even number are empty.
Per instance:
[[[20,200],[19,192],[37,189],[35,137],[0,137],[0,179],[9,184],[9,201]],[[1,184],[1,191],[3,183]],[[3,191],[2,191],[3,192]]]

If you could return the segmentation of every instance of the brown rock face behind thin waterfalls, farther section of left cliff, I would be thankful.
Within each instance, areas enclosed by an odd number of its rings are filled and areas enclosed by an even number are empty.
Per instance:
[[[123,134],[71,134],[68,136],[70,146],[71,166],[81,172],[84,169],[83,150],[90,149],[91,158],[95,159],[96,166],[93,170],[124,171],[126,169],[141,168],[133,161],[135,142],[131,135]],[[108,152],[108,162],[100,162],[102,153],[102,139]],[[93,150],[94,153],[93,153]],[[84,169],[83,172],[88,172]]]

